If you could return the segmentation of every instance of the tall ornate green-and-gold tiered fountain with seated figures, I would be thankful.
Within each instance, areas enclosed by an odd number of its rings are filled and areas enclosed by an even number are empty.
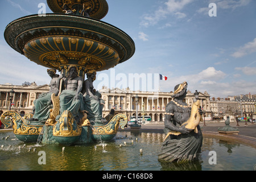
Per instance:
[[[59,70],[61,75],[56,77],[55,88],[58,92],[50,90],[49,96],[42,96],[44,100],[49,98],[48,105],[34,102],[48,108],[44,119],[42,115],[35,119],[32,114],[21,117],[15,111],[7,111],[1,117],[3,125],[9,127],[13,123],[16,137],[27,142],[36,141],[40,134],[44,143],[110,140],[119,126],[123,129],[126,125],[127,117],[117,114],[111,121],[96,118],[94,113],[102,114],[102,100],[92,82],[96,72],[130,59],[135,44],[125,32],[100,20],[108,13],[105,0],[47,0],[47,3],[53,14],[14,20],[6,27],[5,39],[15,51],[49,68],[48,74]],[[72,70],[76,72],[75,78],[69,77]],[[85,76],[89,81],[86,82]],[[67,99],[64,92],[70,89],[77,93]]]

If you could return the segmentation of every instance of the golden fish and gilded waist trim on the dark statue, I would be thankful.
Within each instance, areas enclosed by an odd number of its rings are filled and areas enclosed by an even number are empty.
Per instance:
[[[194,130],[195,133],[198,133],[197,126],[199,125],[199,122],[201,121],[201,114],[199,113],[199,108],[200,108],[200,100],[197,100],[192,105],[191,115],[190,115],[188,121],[184,122],[181,126],[185,125],[185,128]],[[180,135],[180,134],[181,133],[179,131],[170,131],[166,135],[166,138],[169,135]],[[166,140],[166,138],[164,138],[164,140]]]

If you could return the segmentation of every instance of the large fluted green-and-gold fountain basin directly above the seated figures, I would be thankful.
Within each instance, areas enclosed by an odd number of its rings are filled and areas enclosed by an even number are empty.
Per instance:
[[[6,42],[44,67],[76,64],[103,71],[130,59],[133,40],[101,20],[71,14],[29,15],[9,23]]]

